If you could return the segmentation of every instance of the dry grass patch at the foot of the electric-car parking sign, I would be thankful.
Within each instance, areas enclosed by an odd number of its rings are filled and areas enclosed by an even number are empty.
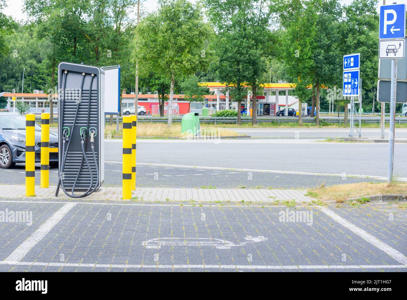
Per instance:
[[[308,189],[306,196],[310,196],[322,201],[335,200],[336,202],[344,202],[347,198],[370,196],[377,194],[405,194],[407,193],[407,183],[392,182],[392,183],[349,183],[333,185],[328,188],[319,187]]]

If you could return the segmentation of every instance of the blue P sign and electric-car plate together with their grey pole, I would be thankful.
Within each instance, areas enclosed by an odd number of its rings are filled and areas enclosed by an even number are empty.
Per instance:
[[[382,5],[380,7],[379,58],[382,59],[391,58],[392,60],[392,71],[390,78],[391,83],[390,83],[389,173],[387,176],[388,182],[392,181],[393,179],[394,122],[396,117],[396,95],[397,95],[397,85],[396,85],[397,58],[404,57],[405,27],[406,27],[405,4]],[[394,41],[395,39],[402,40]],[[403,55],[401,56],[401,54]]]

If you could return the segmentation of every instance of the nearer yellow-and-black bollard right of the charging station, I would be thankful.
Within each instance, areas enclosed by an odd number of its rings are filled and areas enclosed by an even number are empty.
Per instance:
[[[123,117],[123,200],[131,199],[131,119]]]

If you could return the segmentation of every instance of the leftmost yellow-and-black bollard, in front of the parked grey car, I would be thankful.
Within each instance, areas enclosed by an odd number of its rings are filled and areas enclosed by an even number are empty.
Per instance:
[[[26,196],[35,195],[35,115],[26,115]]]

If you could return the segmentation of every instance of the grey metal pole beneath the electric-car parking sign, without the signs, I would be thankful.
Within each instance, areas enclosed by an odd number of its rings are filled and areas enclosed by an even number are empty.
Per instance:
[[[390,87],[390,128],[389,128],[389,174],[387,182],[393,179],[394,162],[394,123],[396,119],[397,60],[392,60],[392,81]]]

